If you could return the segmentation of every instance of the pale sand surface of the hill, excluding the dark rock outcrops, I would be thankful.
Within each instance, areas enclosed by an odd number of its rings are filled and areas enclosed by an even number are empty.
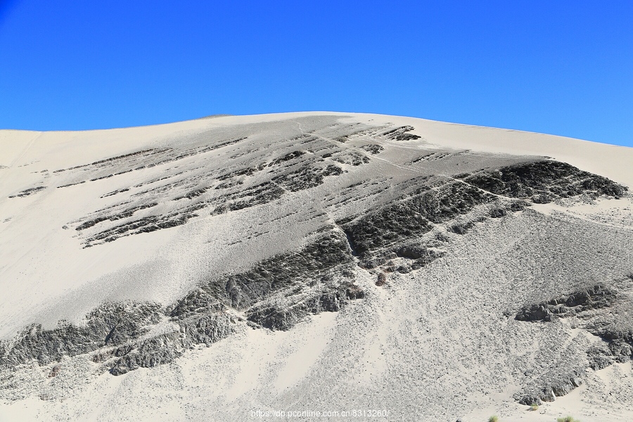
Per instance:
[[[346,172],[339,177],[257,207],[206,213],[170,229],[89,248],[84,246],[91,235],[84,233],[96,229],[75,229],[101,209],[129,206],[122,203],[158,201],[139,215],[177,212],[182,200],[174,196],[191,190],[187,181],[264,159],[273,162],[298,148],[298,134],[335,133],[354,124],[410,125],[415,128],[411,133],[421,139],[381,138],[384,150],[368,155],[366,164],[340,164]],[[132,171],[121,160],[112,168],[96,165],[55,172],[149,148],[172,148],[176,152],[164,154],[173,158],[177,151],[201,151],[211,143],[242,136],[247,140],[142,170],[136,168],[153,156],[143,155]],[[363,153],[361,147],[370,137],[345,143],[345,153]],[[32,322],[79,322],[103,301],[153,300],[168,305],[201,279],[241,271],[299,248],[323,224],[388,203],[402,195],[402,186],[414,177],[510,165],[530,155],[549,156],[633,187],[632,148],[355,113],[218,117],[88,132],[2,131],[0,151],[0,165],[6,166],[0,169],[4,339]],[[434,151],[449,155],[411,164]],[[117,171],[121,174],[100,179]],[[181,184],[158,181],[165,176]],[[250,183],[248,177],[244,186]],[[345,193],[346,186],[368,180],[385,191],[378,195],[378,187],[363,184]],[[60,187],[66,184],[73,185]],[[167,193],[143,193],[161,184],[169,186]],[[37,186],[46,188],[9,198]],[[179,186],[186,188],[179,191]],[[106,196],[124,188],[129,191]],[[353,200],[338,203],[345,195]],[[466,422],[498,414],[501,421],[553,421],[573,414],[583,422],[629,421],[630,363],[587,372],[581,388],[538,411],[517,404],[512,396],[535,362],[566,362],[566,353],[580,356],[582,347],[596,339],[565,322],[525,324],[504,312],[633,271],[632,207],[630,197],[550,203],[478,223],[463,236],[440,227],[437,230],[449,238],[445,257],[409,274],[392,273],[383,287],[375,285],[372,271],[357,268],[357,283],[368,294],[340,312],[309,316],[289,331],[242,324],[236,335],[156,368],[114,377],[84,356],[63,361],[59,375],[49,378],[52,365],[25,366],[16,375],[18,387],[3,396],[0,421],[247,421],[259,419],[251,413],[257,409],[389,412],[386,417],[319,420],[461,417]],[[485,212],[478,209],[464,218]],[[558,347],[561,344],[567,348]],[[13,401],[15,397],[23,398]]]

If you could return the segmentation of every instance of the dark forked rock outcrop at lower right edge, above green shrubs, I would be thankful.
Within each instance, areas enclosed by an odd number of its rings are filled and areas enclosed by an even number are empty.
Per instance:
[[[586,362],[565,362],[560,368],[533,379],[518,393],[521,404],[552,401],[582,384],[585,369],[603,369],[614,362],[627,362],[633,357],[633,321],[629,317],[631,295],[604,284],[551,299],[519,310],[518,321],[544,321],[575,318],[580,327],[602,342],[587,349]]]

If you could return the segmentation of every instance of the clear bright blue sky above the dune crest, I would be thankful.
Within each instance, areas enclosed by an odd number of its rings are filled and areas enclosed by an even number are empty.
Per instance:
[[[633,1],[0,0],[0,128],[302,110],[633,146]]]

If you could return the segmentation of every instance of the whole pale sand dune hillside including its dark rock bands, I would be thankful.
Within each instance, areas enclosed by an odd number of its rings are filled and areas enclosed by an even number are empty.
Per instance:
[[[6,132],[1,411],[595,409],[630,372],[633,153],[543,136],[335,113]]]

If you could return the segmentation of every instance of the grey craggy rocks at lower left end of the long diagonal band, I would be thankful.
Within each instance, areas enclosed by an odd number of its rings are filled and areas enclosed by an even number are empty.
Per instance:
[[[119,375],[138,367],[171,362],[196,344],[210,345],[234,331],[235,319],[222,312],[172,318],[172,331],[152,336],[151,326],[166,319],[157,304],[107,304],[87,315],[85,326],[66,324],[53,330],[32,326],[0,358],[3,366],[59,361],[98,351],[95,362],[108,362]]]

